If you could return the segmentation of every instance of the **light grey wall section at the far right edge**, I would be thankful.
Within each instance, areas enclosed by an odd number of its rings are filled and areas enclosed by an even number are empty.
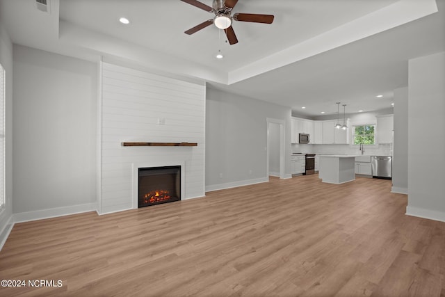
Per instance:
[[[408,69],[407,214],[445,221],[445,52]]]

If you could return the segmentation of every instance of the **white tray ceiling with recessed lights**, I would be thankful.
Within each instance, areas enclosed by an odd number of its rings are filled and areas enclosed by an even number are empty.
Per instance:
[[[393,90],[407,86],[407,61],[445,51],[445,0],[239,0],[234,13],[275,19],[234,22],[236,45],[215,26],[184,34],[212,14],[179,0],[48,2],[42,13],[35,0],[0,0],[13,42],[203,79],[307,117],[337,113],[335,102],[347,113],[389,108]]]

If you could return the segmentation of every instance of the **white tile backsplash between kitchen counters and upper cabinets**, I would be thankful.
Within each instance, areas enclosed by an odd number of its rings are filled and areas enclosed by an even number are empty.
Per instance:
[[[292,152],[312,154],[362,154],[359,145],[292,145]],[[365,145],[364,154],[372,156],[392,156],[392,144]]]

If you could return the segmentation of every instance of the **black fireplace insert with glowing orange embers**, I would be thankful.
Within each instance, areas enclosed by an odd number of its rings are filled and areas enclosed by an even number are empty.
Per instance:
[[[181,166],[138,168],[138,207],[181,200]]]

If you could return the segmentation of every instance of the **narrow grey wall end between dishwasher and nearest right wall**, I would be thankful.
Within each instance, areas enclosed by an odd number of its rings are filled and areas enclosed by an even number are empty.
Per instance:
[[[408,88],[394,90],[394,153],[392,189],[408,193]]]

